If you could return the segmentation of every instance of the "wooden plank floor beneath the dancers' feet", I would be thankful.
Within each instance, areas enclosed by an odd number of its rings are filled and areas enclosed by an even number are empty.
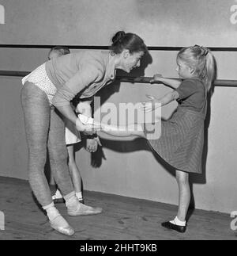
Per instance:
[[[54,231],[33,200],[28,181],[0,177],[0,210],[5,214],[5,230],[1,240],[232,240],[231,217],[219,212],[195,210],[190,216],[186,233],[168,231],[160,226],[175,216],[177,206],[152,201],[119,197],[85,191],[88,205],[100,206],[97,216],[70,217],[65,204],[58,210],[76,230],[68,237]]]

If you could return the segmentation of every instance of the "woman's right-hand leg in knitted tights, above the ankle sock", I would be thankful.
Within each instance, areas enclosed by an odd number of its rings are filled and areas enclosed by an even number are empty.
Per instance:
[[[51,109],[48,151],[53,177],[63,196],[65,196],[73,191],[73,184],[67,166],[65,124],[56,109]]]

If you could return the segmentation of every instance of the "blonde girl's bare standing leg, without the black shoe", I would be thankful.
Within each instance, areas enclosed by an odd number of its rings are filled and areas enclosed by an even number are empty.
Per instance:
[[[189,174],[176,170],[176,181],[179,186],[179,209],[177,217],[179,220],[186,220],[186,212],[190,205],[190,182]]]

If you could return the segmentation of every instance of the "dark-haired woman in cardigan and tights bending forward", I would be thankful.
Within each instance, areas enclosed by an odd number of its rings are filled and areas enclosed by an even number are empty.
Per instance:
[[[62,55],[43,63],[23,78],[21,104],[28,142],[28,178],[33,193],[47,212],[51,227],[65,235],[73,235],[73,227],[59,214],[51,199],[51,191],[43,172],[47,147],[52,174],[62,191],[70,216],[98,214],[77,201],[67,166],[67,151],[62,116],[76,124],[79,132],[93,134],[92,125],[82,124],[70,101],[92,97],[115,79],[121,69],[130,72],[140,65],[147,51],[144,41],[134,33],[119,31],[112,38],[109,52],[84,51]]]

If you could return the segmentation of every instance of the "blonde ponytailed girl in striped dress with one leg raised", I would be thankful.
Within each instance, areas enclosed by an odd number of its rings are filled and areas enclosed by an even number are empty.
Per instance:
[[[148,139],[154,151],[175,168],[179,186],[179,208],[174,220],[164,222],[163,227],[179,232],[186,231],[186,212],[190,204],[189,174],[201,174],[201,155],[204,143],[204,121],[207,109],[207,94],[216,75],[215,60],[209,49],[195,45],[182,48],[177,56],[177,71],[181,81],[154,75],[151,82],[163,82],[175,90],[159,99],[151,97],[145,102],[146,112],[171,101],[179,106],[170,120],[161,122],[159,139]],[[154,104],[155,103],[155,104]],[[94,122],[96,123],[96,122]],[[158,124],[157,124],[158,125]],[[159,124],[160,125],[160,124]],[[112,136],[142,136],[147,138],[146,129],[141,124],[126,128],[102,124],[102,132]],[[150,129],[149,129],[150,131]]]

